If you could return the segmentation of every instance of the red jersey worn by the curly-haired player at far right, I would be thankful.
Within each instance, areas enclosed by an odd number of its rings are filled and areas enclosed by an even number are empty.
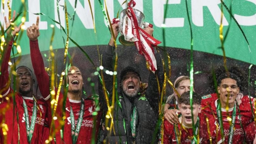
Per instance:
[[[202,110],[203,113],[207,115],[210,125],[210,131],[212,135],[216,135],[216,124],[218,123],[217,114],[216,114],[216,107],[217,107],[217,94],[208,94],[202,97]],[[252,100],[252,104],[254,105],[255,99],[253,97],[250,98]],[[233,143],[242,144],[243,139],[245,138],[245,130],[246,126],[253,121],[253,113],[250,107],[250,99],[249,96],[244,96],[241,100],[241,104],[239,106],[241,117],[239,116],[238,108],[236,106],[236,117],[235,117],[235,131],[233,133]],[[212,111],[211,111],[212,109]],[[228,143],[229,138],[229,121],[227,119],[228,113],[226,109],[221,109],[222,111],[222,121],[223,121],[223,132],[224,132],[224,142]],[[253,106],[253,111],[255,111],[255,107]],[[229,109],[229,116],[232,116],[233,108]],[[243,129],[240,126],[240,120],[243,126]],[[220,133],[220,128],[218,129],[218,133]],[[221,136],[218,136],[218,142],[223,141]]]

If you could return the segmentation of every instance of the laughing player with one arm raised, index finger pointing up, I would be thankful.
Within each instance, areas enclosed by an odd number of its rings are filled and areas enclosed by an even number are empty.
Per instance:
[[[31,60],[36,77],[42,77],[44,79],[44,81],[38,82],[40,91],[43,97],[48,97],[50,96],[50,83],[49,76],[44,69],[45,67],[43,58],[39,50],[37,38],[39,37],[40,33],[38,26],[39,17],[37,17],[37,22],[35,25],[33,24],[32,27],[27,28],[27,36],[30,40]],[[96,130],[98,130],[100,114],[98,114],[98,119],[96,123],[94,123],[92,115],[94,111],[94,103],[92,99],[82,98],[83,78],[81,75],[81,71],[76,66],[71,66],[68,70],[68,84],[68,98],[66,99],[65,105],[65,116],[67,118],[64,120],[64,136],[61,136],[59,127],[59,122],[62,121],[61,109],[63,102],[63,94],[60,93],[56,112],[58,119],[55,120],[55,128],[58,130],[56,132],[56,143],[90,144],[92,141],[93,127],[96,126]],[[47,88],[48,90],[43,91],[44,88]]]

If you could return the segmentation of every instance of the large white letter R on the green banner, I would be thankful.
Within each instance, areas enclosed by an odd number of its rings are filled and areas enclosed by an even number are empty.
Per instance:
[[[192,22],[198,27],[204,26],[203,7],[206,6],[214,21],[220,25],[221,9],[218,6],[219,3],[221,3],[220,0],[191,0]],[[229,25],[224,15],[222,17],[222,24],[223,26]]]

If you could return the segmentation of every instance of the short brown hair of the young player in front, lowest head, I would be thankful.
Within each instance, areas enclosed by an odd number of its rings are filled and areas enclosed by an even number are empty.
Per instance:
[[[198,93],[193,92],[193,105],[201,105],[202,96]],[[190,91],[183,93],[179,98],[180,104],[190,105]]]

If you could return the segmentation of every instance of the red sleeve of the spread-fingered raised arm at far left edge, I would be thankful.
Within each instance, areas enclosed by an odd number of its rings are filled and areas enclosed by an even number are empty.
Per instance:
[[[2,93],[3,96],[6,96],[8,92],[10,92],[9,87],[6,87],[9,80],[9,72],[8,72],[8,62],[10,60],[10,54],[12,50],[13,41],[9,41],[9,45],[4,50],[4,55],[2,55],[2,63],[1,63],[1,75],[0,75],[0,89],[4,89]]]

